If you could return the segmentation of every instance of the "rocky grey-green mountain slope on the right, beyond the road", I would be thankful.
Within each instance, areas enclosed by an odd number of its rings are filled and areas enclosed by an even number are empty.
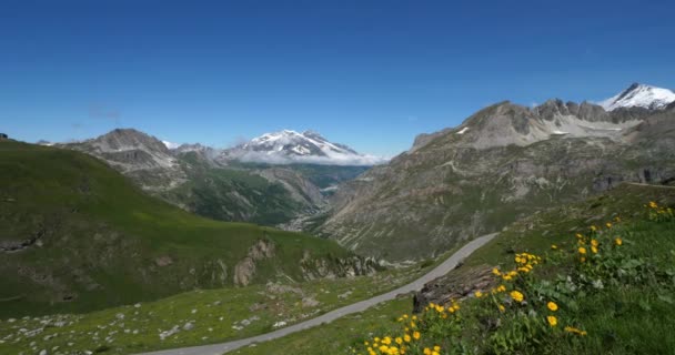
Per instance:
[[[343,184],[316,230],[391,261],[439,254],[619,182],[675,178],[675,110],[502,102]]]

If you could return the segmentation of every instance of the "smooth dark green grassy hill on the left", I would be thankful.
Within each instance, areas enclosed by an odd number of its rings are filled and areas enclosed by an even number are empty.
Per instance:
[[[191,215],[89,155],[12,141],[0,142],[0,316],[229,286],[248,256],[253,283],[302,280],[314,265],[302,270],[303,257],[339,273],[352,256],[308,235]]]

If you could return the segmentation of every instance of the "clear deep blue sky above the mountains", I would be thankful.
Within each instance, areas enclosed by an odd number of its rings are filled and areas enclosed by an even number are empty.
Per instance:
[[[0,131],[393,155],[502,100],[675,89],[673,1],[1,1]]]

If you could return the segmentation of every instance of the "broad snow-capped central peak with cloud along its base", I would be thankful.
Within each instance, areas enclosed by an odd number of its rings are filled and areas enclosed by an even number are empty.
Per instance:
[[[292,130],[265,133],[228,150],[226,155],[229,159],[272,164],[375,165],[385,161],[360,154],[344,144],[332,143],[316,132]]]

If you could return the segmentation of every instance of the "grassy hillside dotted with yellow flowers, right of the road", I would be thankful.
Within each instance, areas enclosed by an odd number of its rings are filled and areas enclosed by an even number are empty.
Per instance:
[[[397,354],[403,345],[405,354],[672,354],[674,205],[675,189],[622,185],[537,213],[447,276],[496,267],[488,283],[455,285],[469,290],[463,300],[414,320],[410,298],[391,302],[234,353]]]

